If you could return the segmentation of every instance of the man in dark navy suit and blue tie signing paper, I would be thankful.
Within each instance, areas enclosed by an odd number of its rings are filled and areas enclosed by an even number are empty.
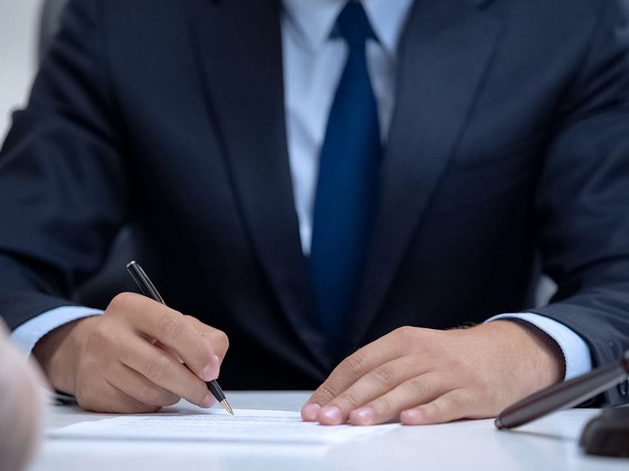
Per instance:
[[[326,424],[497,414],[629,348],[628,45],[623,0],[73,1],[4,143],[0,309],[93,410],[220,371]],[[73,305],[125,222],[169,308]]]

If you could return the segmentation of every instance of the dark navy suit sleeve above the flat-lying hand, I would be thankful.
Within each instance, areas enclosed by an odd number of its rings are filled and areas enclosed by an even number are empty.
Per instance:
[[[599,3],[536,201],[544,268],[558,291],[532,310],[579,334],[594,366],[629,350],[629,15],[626,2]],[[610,389],[607,400],[629,402],[624,391]]]

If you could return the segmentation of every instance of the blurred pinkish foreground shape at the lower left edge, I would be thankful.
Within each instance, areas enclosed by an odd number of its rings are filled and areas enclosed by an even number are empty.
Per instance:
[[[19,471],[38,440],[43,401],[40,375],[6,334],[0,319],[0,471]]]

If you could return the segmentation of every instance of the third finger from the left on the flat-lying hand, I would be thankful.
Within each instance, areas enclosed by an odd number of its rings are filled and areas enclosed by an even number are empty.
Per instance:
[[[375,425],[398,420],[400,413],[410,407],[426,404],[446,393],[450,388],[444,384],[442,375],[428,372],[405,380],[397,388],[377,397],[368,405],[350,412],[353,425]]]

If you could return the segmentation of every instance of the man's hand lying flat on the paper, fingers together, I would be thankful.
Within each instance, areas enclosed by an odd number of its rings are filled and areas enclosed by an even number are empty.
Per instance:
[[[536,327],[401,327],[341,362],[301,414],[326,425],[493,417],[563,379],[563,370],[559,345]]]

